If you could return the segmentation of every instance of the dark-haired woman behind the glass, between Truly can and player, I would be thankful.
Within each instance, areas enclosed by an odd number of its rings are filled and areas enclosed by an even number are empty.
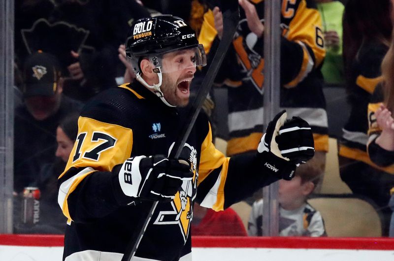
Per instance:
[[[46,163],[29,187],[40,190],[39,222],[26,226],[17,217],[14,232],[63,234],[66,229],[66,217],[58,205],[58,173],[62,172],[68,161],[78,132],[78,114],[66,116],[56,129],[56,159]]]

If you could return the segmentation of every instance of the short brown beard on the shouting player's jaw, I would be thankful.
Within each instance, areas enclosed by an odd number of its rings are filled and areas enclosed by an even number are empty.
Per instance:
[[[186,107],[189,103],[189,97],[179,97],[177,80],[171,79],[167,73],[163,73],[163,80],[160,89],[163,92],[165,100],[176,107]]]

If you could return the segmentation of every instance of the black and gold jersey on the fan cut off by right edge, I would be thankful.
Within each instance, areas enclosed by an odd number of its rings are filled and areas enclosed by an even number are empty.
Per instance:
[[[381,148],[375,143],[376,138],[382,132],[377,125],[375,112],[383,102],[383,86],[379,83],[372,94],[368,104],[368,144],[367,152],[369,159],[387,173],[394,174],[394,153]],[[377,167],[376,165],[374,165]]]

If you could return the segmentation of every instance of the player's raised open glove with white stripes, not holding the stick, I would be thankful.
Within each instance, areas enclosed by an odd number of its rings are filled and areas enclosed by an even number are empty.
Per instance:
[[[299,117],[286,121],[286,117],[283,110],[268,124],[257,151],[265,170],[291,180],[296,166],[310,160],[315,148],[309,124]]]

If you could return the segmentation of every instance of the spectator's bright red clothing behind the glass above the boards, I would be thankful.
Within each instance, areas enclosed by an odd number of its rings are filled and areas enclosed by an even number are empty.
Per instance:
[[[198,203],[193,206],[193,235],[210,236],[246,236],[246,230],[241,218],[231,208],[216,212],[201,207]]]

